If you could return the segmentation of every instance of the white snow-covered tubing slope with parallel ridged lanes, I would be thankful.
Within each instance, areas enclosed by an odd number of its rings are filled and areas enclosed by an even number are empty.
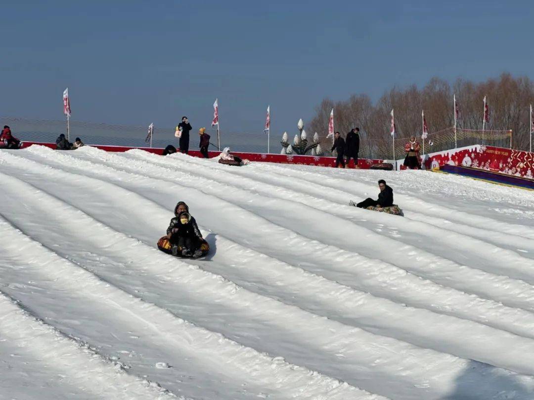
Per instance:
[[[405,217],[349,207],[384,178]],[[534,193],[0,152],[0,398],[534,398]],[[177,201],[211,246],[158,251]]]

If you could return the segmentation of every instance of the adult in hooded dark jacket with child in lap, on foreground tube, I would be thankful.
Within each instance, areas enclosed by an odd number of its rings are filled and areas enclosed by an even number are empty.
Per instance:
[[[167,237],[171,243],[172,255],[198,258],[202,255],[200,242],[202,234],[197,221],[189,213],[189,206],[184,202],[178,202],[174,209],[175,218],[172,218],[167,228]],[[181,248],[181,254],[178,249]]]

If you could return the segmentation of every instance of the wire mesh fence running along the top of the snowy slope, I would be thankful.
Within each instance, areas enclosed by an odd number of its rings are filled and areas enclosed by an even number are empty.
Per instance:
[[[67,133],[66,121],[48,121],[38,119],[25,119],[13,117],[0,117],[0,124],[9,125],[13,135],[22,141],[55,142],[60,133]],[[197,140],[200,142],[198,128],[195,127],[190,133],[190,148],[197,148]],[[70,141],[76,137],[88,145],[108,145],[126,147],[148,147],[145,142],[148,132],[147,126],[99,124],[90,122],[70,121]],[[154,127],[152,147],[163,148],[167,145],[178,147],[178,138],[174,136],[175,127]],[[211,150],[217,148],[217,130],[214,127],[207,127],[212,146]],[[421,137],[416,137],[423,150]],[[271,134],[271,153],[280,153],[281,135]],[[375,159],[400,159],[404,157],[404,145],[410,138],[395,138],[385,134],[380,139],[368,138],[365,134],[360,134],[360,158]],[[331,139],[320,138],[323,155],[329,155]],[[424,141],[425,153],[434,153],[471,145],[488,145],[496,147],[511,147],[512,131],[498,130],[470,130],[449,127],[442,131],[429,133]],[[221,148],[230,147],[234,151],[250,153],[266,153],[267,135],[264,133],[244,133],[221,131]],[[393,147],[395,146],[395,157]]]

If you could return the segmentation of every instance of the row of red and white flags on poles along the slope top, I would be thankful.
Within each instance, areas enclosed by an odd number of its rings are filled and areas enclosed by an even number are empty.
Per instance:
[[[488,101],[486,100],[486,96],[484,96],[483,99],[483,117],[482,117],[482,145],[484,145],[484,132],[486,128],[486,123],[490,122],[490,108]],[[460,118],[460,104],[456,100],[456,94],[453,94],[453,107],[454,107],[454,146],[458,147],[458,140],[456,137],[456,130],[457,130],[457,123],[458,119]],[[68,92],[68,87],[63,92],[63,113],[67,117],[67,140],[69,139],[69,122],[70,122],[70,97]],[[391,109],[391,127],[390,127],[390,134],[394,141],[393,146],[393,158],[395,159],[395,135],[396,135],[396,125],[395,125],[395,113],[394,108]],[[532,105],[530,105],[530,151],[532,151],[532,133],[534,133],[534,110],[532,109]],[[425,153],[425,140],[428,138],[428,125],[425,118],[425,110],[421,111],[421,123],[422,123],[422,133],[421,133],[421,139],[423,142],[423,153]],[[215,99],[215,102],[213,103],[213,121],[211,121],[211,126],[217,126],[217,148],[221,149],[221,132],[219,130],[219,104],[218,99]],[[267,106],[267,114],[265,117],[265,126],[263,131],[267,134],[267,153],[270,153],[270,133],[271,133],[271,106]],[[154,135],[154,123],[151,123],[148,125],[148,134],[146,136],[145,142],[150,143],[150,146],[152,147],[152,138]],[[328,118],[328,134],[327,138],[332,137],[332,141],[334,141],[334,109],[330,111],[330,116]],[[433,143],[431,140],[428,141],[428,144],[431,146]]]

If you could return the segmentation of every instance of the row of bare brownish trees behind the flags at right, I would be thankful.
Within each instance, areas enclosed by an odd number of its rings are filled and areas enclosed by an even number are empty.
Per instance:
[[[529,149],[529,105],[534,103],[534,82],[528,77],[513,77],[504,73],[499,78],[475,83],[457,79],[451,86],[439,78],[432,78],[422,88],[411,85],[405,89],[393,87],[384,92],[375,103],[366,94],[352,95],[347,100],[334,102],[324,99],[312,119],[312,132],[321,136],[327,130],[330,110],[334,108],[335,130],[347,133],[352,127],[360,128],[362,146],[365,139],[391,140],[390,111],[395,108],[398,137],[421,134],[421,110],[430,133],[454,125],[453,94],[460,109],[457,126],[464,129],[482,129],[483,98],[490,108],[488,130],[513,130],[512,147]]]

